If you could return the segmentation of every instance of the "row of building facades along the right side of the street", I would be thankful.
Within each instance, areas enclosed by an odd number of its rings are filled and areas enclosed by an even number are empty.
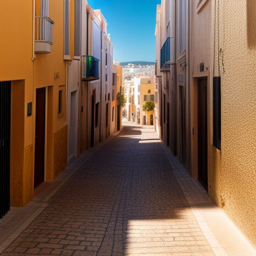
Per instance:
[[[155,29],[160,136],[254,245],[255,9],[253,1],[163,0]],[[166,43],[173,25],[176,43]]]

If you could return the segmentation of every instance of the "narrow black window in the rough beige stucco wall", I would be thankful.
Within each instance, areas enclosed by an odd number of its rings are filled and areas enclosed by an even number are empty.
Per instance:
[[[213,77],[213,145],[221,149],[221,96],[220,77]]]

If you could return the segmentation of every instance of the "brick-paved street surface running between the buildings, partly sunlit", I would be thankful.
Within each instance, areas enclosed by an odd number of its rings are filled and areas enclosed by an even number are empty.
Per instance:
[[[84,161],[0,255],[214,253],[153,129],[130,125]]]

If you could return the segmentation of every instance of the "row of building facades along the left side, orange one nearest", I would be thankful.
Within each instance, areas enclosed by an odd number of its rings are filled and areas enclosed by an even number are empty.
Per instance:
[[[0,34],[6,38],[0,42],[2,217],[110,134],[110,122],[104,134],[103,116],[113,47],[104,17],[86,0],[3,0],[0,9]],[[5,22],[9,13],[15,19]],[[116,73],[121,75],[119,67]],[[109,99],[109,120],[110,107]],[[114,131],[121,127],[117,120]]]

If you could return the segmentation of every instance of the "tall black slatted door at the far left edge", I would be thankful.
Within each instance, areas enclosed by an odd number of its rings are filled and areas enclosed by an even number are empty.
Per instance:
[[[0,82],[0,218],[10,209],[11,82]]]

